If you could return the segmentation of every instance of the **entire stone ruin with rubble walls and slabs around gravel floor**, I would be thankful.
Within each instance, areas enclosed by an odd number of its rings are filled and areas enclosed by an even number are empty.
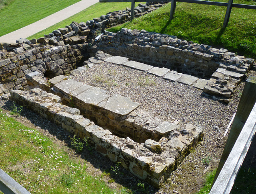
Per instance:
[[[139,4],[135,17],[162,5]],[[109,96],[65,75],[106,61],[194,86],[228,103],[254,59],[145,30],[104,31],[129,19],[127,8],[72,22],[40,39],[0,43],[0,96],[88,137],[102,155],[159,187],[202,139],[203,129],[155,118],[125,96]]]

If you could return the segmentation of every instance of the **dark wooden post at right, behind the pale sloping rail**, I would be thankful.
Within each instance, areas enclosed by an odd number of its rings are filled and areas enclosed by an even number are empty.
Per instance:
[[[244,127],[244,123],[246,122],[252,108],[256,102],[256,77],[250,76],[245,83],[244,90],[242,92],[242,96],[240,102],[238,104],[238,108],[236,111],[236,116],[234,118],[232,127],[230,129],[230,133],[228,135],[228,139],[222,153],[220,163],[218,169],[216,171],[214,182],[216,181],[220,171],[225,164],[230,151],[232,150],[234,144],[236,143],[236,139],[238,138],[242,128]]]

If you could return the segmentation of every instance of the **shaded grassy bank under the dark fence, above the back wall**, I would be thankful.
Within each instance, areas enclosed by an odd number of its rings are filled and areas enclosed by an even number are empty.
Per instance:
[[[256,5],[252,0],[234,3]],[[145,29],[256,58],[256,10],[232,8],[228,27],[223,31],[226,7],[177,2],[174,19],[169,21],[170,7],[171,3],[109,31],[116,32],[123,27]]]

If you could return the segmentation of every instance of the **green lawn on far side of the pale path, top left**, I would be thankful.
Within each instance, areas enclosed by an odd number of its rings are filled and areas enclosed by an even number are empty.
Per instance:
[[[32,24],[80,0],[1,0],[0,36]]]

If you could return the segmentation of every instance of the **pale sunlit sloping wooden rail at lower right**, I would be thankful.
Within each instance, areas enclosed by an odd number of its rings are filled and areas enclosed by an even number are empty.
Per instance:
[[[255,80],[255,78],[251,78],[250,80],[252,79]],[[253,96],[253,98],[255,98],[256,93],[250,90],[247,95]],[[228,155],[228,158],[226,159],[226,162],[224,163],[220,174],[217,175],[218,177],[216,178],[216,181],[214,182],[214,185],[212,186],[209,194],[229,194],[232,189],[238,171],[244,161],[246,153],[256,132],[255,100],[253,104],[254,106],[252,108],[252,111],[250,112],[246,123],[242,127],[242,131],[236,139],[236,143],[234,144],[230,154]]]

